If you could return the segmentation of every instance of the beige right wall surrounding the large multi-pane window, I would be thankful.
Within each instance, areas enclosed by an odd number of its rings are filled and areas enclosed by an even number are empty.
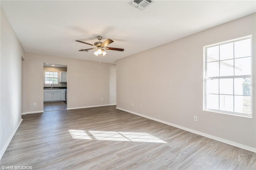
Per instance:
[[[119,59],[117,107],[255,149],[255,22],[252,14]],[[252,118],[203,111],[203,46],[248,35],[253,47]]]

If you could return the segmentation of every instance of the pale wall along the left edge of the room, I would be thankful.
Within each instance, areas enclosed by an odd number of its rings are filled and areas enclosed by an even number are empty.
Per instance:
[[[21,72],[24,49],[1,8],[0,155],[4,154],[21,119]],[[11,123],[12,119],[12,123]],[[2,134],[3,128],[3,134]]]

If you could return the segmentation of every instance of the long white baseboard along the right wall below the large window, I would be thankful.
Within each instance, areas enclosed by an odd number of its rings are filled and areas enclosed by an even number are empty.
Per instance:
[[[204,136],[204,137],[207,137],[207,138],[211,138],[211,139],[214,139],[214,140],[218,140],[220,142],[223,142],[223,143],[226,143],[226,144],[230,144],[232,146],[236,146],[238,148],[242,148],[242,149],[245,149],[245,150],[249,150],[251,152],[255,152],[256,153],[256,148],[252,148],[250,146],[246,146],[246,145],[243,145],[243,144],[239,144],[239,143],[236,143],[236,142],[233,142],[233,141],[230,141],[230,140],[226,140],[226,139],[223,139],[223,138],[219,138],[217,136],[213,136],[213,135],[210,135],[210,134],[207,134],[207,133],[203,133],[203,132],[199,132],[197,130],[193,130],[193,129],[190,129],[190,128],[186,128],[186,127],[182,127],[182,126],[179,126],[179,125],[175,125],[175,124],[172,124],[172,123],[169,123],[169,122],[166,122],[166,121],[162,121],[160,119],[156,119],[156,118],[153,118],[153,117],[149,117],[149,116],[145,116],[145,115],[142,115],[140,113],[136,113],[136,112],[133,112],[133,111],[128,111],[126,109],[122,109],[122,108],[119,108],[119,107],[116,107],[116,109],[119,109],[121,111],[126,111],[128,113],[132,113],[134,115],[138,115],[138,116],[141,116],[141,117],[145,117],[145,118],[148,118],[148,119],[151,119],[153,121],[157,121],[157,122],[160,122],[160,123],[164,123],[166,125],[170,125],[172,127],[176,127],[176,128],[180,128],[182,130],[186,130],[188,132],[192,132],[192,133],[195,133],[195,134],[199,134],[201,136]]]

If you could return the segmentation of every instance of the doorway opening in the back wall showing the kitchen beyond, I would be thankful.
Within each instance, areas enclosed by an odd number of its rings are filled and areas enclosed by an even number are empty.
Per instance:
[[[44,63],[44,111],[67,108],[67,65]]]

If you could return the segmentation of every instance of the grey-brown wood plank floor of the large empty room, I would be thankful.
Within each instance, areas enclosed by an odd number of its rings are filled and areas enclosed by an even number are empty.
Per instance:
[[[1,166],[255,170],[256,153],[106,106],[22,115]]]

